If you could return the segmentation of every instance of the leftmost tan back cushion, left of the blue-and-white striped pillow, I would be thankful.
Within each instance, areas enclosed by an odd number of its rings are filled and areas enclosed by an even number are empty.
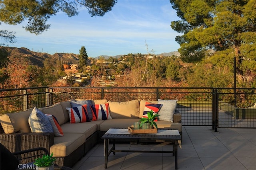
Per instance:
[[[0,116],[0,122],[4,133],[29,133],[31,132],[30,126],[28,124],[28,117],[32,112],[33,108],[26,111],[20,111],[18,113],[6,113]]]

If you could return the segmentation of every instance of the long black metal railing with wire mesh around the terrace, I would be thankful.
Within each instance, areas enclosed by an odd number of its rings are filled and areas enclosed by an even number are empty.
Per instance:
[[[256,128],[255,88],[39,87],[1,90],[0,113],[46,107],[71,99],[125,102],[174,100],[182,125]],[[251,108],[248,108],[251,107]]]

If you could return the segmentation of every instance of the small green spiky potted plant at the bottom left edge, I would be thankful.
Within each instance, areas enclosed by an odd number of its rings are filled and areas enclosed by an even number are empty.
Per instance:
[[[35,159],[34,164],[38,166],[38,170],[54,170],[54,161],[56,158],[52,156],[53,153],[50,156],[44,154],[42,158]]]

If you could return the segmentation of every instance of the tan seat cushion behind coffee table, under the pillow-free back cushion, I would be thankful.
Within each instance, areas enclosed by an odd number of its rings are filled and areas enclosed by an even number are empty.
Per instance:
[[[100,131],[108,131],[110,128],[127,128],[140,121],[139,118],[108,119],[100,124]]]

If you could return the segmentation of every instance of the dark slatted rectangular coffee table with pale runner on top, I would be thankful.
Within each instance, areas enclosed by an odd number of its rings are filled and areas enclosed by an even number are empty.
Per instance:
[[[104,156],[105,156],[105,168],[108,167],[108,156],[111,152],[115,154],[116,152],[154,152],[154,153],[172,153],[175,156],[175,169],[178,169],[178,141],[181,140],[178,130],[171,129],[158,129],[156,134],[137,134],[131,135],[128,133],[128,129],[109,129],[103,136],[104,139]],[[159,150],[116,150],[116,140],[125,139],[126,141],[134,140],[146,140],[146,141],[156,141],[161,140],[164,142],[172,142],[172,150],[170,151],[159,151]],[[108,150],[109,141],[112,141],[113,146]]]

